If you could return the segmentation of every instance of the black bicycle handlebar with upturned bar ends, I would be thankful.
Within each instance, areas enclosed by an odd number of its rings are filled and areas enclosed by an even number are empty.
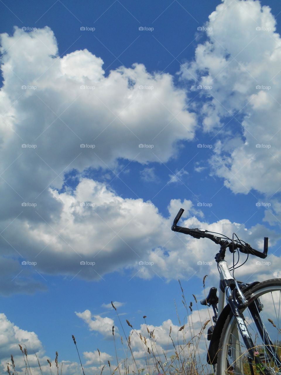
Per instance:
[[[183,212],[184,212],[183,208],[181,208],[178,211],[178,213],[177,213],[177,215],[176,215],[176,217],[173,221],[173,225],[172,225],[172,228],[171,228],[172,231],[188,234],[189,236],[192,236],[192,237],[197,238],[197,239],[208,238],[208,239],[212,240],[213,242],[215,242],[217,245],[224,246],[224,248],[229,247],[230,250],[239,249],[244,254],[252,254],[252,255],[255,255],[256,257],[263,258],[263,259],[267,257],[268,237],[264,238],[263,252],[258,251],[256,249],[253,249],[248,243],[246,243],[245,245],[236,243],[233,247],[232,242],[228,242],[226,240],[223,240],[221,237],[216,237],[213,234],[206,233],[207,231],[204,230],[204,229],[185,228],[184,226],[176,225],[178,223],[179,219],[181,218],[181,215],[183,214]]]

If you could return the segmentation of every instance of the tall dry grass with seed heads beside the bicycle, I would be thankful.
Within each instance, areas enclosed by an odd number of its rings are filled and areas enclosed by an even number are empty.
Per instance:
[[[203,279],[203,287],[205,290],[205,279]],[[129,320],[126,320],[127,326],[129,327],[129,333],[126,333],[125,328],[128,330],[128,327],[123,325],[123,322],[120,319],[118,314],[117,308],[112,304],[112,308],[115,310],[117,315],[119,325],[121,330],[123,331],[122,336],[120,336],[121,348],[123,348],[124,356],[122,358],[118,358],[119,351],[117,350],[117,343],[115,337],[115,326],[112,326],[112,336],[114,341],[114,348],[115,348],[115,359],[116,363],[112,365],[108,360],[107,363],[103,363],[101,360],[101,353],[100,350],[97,349],[99,354],[99,365],[98,371],[93,373],[92,370],[84,368],[82,366],[80,354],[78,351],[78,346],[76,343],[75,337],[72,335],[73,343],[75,344],[79,362],[81,365],[81,373],[83,375],[102,375],[102,374],[110,374],[114,375],[211,375],[214,374],[213,367],[211,365],[206,364],[206,353],[208,350],[209,342],[206,341],[205,330],[207,325],[211,321],[211,316],[209,319],[202,319],[200,314],[202,315],[202,309],[199,309],[197,298],[194,294],[192,294],[192,301],[187,303],[185,298],[185,294],[181,283],[179,281],[179,286],[181,288],[181,297],[182,297],[182,304],[185,308],[185,317],[184,322],[181,321],[178,315],[178,309],[175,305],[176,314],[178,317],[179,322],[179,329],[177,332],[172,331],[172,327],[170,327],[169,335],[167,335],[167,344],[166,344],[166,351],[164,351],[160,345],[157,343],[157,337],[155,337],[154,330],[149,330],[149,326],[147,323],[146,315],[143,316],[144,324],[146,327],[147,335],[142,335],[139,330],[136,330]],[[207,310],[204,310],[207,311]],[[196,312],[194,314],[194,312]],[[205,315],[206,316],[206,315]],[[194,322],[194,317],[199,317],[196,322]],[[270,320],[269,320],[270,321]],[[270,323],[274,326],[274,322],[270,321]],[[198,328],[199,324],[199,328]],[[277,329],[277,327],[276,327]],[[132,342],[132,338],[134,339],[134,344]],[[136,342],[136,338],[138,338],[139,343],[143,348],[143,356],[140,359],[140,356],[134,354],[134,345]],[[119,341],[119,338],[118,338]],[[31,371],[30,364],[28,362],[28,353],[27,348],[24,345],[24,349],[22,345],[19,344],[19,349],[22,353],[24,359],[24,367],[22,371],[22,366],[20,367],[20,371],[16,369],[16,365],[11,356],[11,363],[7,363],[7,372],[9,375],[34,375],[32,371],[35,372],[34,368]],[[259,352],[258,356],[262,353],[261,350],[258,348],[256,349]],[[46,374],[46,366],[41,366],[39,359],[34,353],[39,368],[36,369],[36,374],[39,373],[41,375]],[[278,356],[281,357],[281,348],[278,348]],[[204,358],[204,360],[202,360]],[[47,360],[49,366],[50,374],[52,374],[52,370],[54,372],[54,366],[52,367],[51,360]],[[56,375],[62,375],[63,363],[59,365],[58,363],[58,352],[55,353],[55,372]],[[114,361],[115,362],[115,361]],[[46,364],[45,364],[46,365]],[[243,357],[243,366],[244,366],[244,374],[251,375],[250,367],[247,363],[246,356]],[[259,375],[263,371],[262,368],[259,368],[257,365],[253,365],[254,367],[254,375]],[[59,371],[60,368],[60,371]],[[42,371],[43,369],[43,371]],[[106,371],[107,370],[107,371]],[[20,372],[20,374],[19,374]],[[229,375],[233,374],[231,368],[227,371]]]

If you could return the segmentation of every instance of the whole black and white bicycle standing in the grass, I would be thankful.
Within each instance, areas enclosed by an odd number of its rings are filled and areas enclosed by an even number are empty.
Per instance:
[[[230,239],[220,233],[178,226],[183,212],[181,208],[176,215],[171,228],[173,231],[196,239],[208,238],[220,245],[220,251],[215,256],[220,273],[219,295],[217,297],[217,288],[212,287],[201,301],[201,305],[212,306],[214,311],[214,325],[207,333],[210,341],[207,362],[213,365],[216,375],[281,375],[281,279],[247,284],[234,278],[234,270],[246,263],[249,254],[262,259],[267,257],[268,237],[264,238],[263,252],[260,252],[240,240],[235,233]],[[233,266],[230,268],[224,260],[227,249],[233,254]],[[236,251],[238,261],[234,264]],[[247,259],[237,266],[239,252],[247,254]],[[275,317],[272,316],[274,314]]]

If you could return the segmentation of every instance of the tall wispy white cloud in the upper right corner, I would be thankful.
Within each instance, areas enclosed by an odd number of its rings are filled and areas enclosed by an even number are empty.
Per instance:
[[[180,74],[197,79],[191,89],[203,87],[198,90],[205,97],[199,104],[203,129],[217,140],[210,164],[233,192],[255,189],[270,197],[281,186],[276,20],[259,1],[224,0],[206,27],[208,40]]]

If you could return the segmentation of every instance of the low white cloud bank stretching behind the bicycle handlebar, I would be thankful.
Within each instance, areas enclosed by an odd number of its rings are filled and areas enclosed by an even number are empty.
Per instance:
[[[51,193],[62,207],[59,220],[32,226],[14,221],[4,232],[14,249],[21,246],[25,261],[36,262],[28,266],[13,260],[15,275],[9,288],[17,290],[18,284],[26,284],[33,272],[100,280],[106,273],[127,268],[131,277],[145,279],[202,278],[210,267],[198,262],[214,263],[218,247],[208,239],[197,240],[170,230],[180,207],[186,208],[182,226],[208,228],[229,237],[235,232],[259,249],[263,236],[268,235],[273,245],[280,237],[263,225],[247,230],[245,225],[226,219],[214,223],[199,220],[202,212],[188,200],[173,199],[168,207],[170,217],[164,218],[154,205],[142,199],[122,198],[105,184],[88,178],[82,178],[71,194]],[[7,247],[7,255],[9,251]],[[211,271],[217,277],[216,268]],[[88,324],[94,324],[90,315],[87,319]],[[106,330],[109,335],[110,324]]]

